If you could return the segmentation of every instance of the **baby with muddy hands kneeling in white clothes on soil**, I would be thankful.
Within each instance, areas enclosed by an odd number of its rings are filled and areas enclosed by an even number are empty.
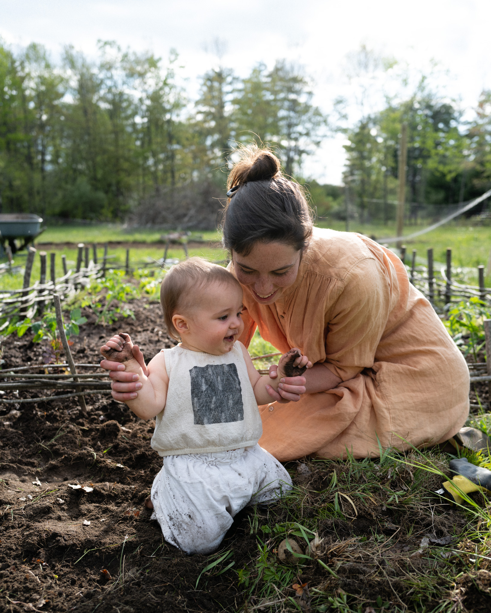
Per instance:
[[[161,304],[179,345],[162,349],[148,367],[125,333],[101,353],[139,375],[141,387],[126,404],[141,419],[155,417],[151,445],[163,467],[147,503],[152,519],[169,543],[208,554],[247,504],[277,500],[290,489],[285,468],[258,445],[258,405],[271,402],[268,387],[276,390],[282,377],[300,375],[311,362],[291,349],[279,360],[277,379],[261,376],[237,340],[244,329],[241,285],[199,257],[169,270]]]

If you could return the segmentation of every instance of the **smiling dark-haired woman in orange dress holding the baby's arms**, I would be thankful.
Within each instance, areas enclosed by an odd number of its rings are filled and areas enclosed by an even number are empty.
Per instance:
[[[400,259],[363,235],[314,229],[271,151],[244,150],[228,187],[223,242],[244,289],[240,340],[248,346],[258,327],[279,351],[298,347],[315,363],[306,394],[284,379],[260,407],[260,445],[285,462],[377,457],[454,436],[469,412],[468,368]],[[134,384],[113,388],[123,400]]]

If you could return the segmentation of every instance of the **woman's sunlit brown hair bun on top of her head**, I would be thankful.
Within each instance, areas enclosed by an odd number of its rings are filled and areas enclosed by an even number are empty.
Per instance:
[[[228,175],[228,188],[244,185],[250,181],[269,181],[280,178],[281,163],[270,149],[260,149],[250,145],[240,150],[240,159]]]

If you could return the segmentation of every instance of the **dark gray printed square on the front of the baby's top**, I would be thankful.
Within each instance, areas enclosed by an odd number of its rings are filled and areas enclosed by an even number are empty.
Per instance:
[[[241,381],[235,364],[195,366],[189,374],[195,424],[226,424],[244,419]]]

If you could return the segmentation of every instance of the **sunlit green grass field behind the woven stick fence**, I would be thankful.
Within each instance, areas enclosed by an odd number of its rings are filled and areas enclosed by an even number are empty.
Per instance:
[[[332,223],[322,222],[319,223],[320,227],[331,227],[334,230],[344,230],[344,222],[333,221]],[[405,229],[406,234],[411,234],[415,230],[419,229],[416,226],[408,226]],[[350,223],[350,231],[360,232],[368,236],[374,236],[377,240],[381,240],[383,237],[390,237],[395,235],[395,224],[387,224],[386,226],[379,224],[357,224]],[[56,275],[61,276],[61,254],[64,253],[67,256],[68,265],[74,266],[77,259],[77,251],[74,248],[68,246],[58,245],[55,247],[44,247],[42,243],[79,243],[83,242],[86,245],[92,245],[96,242],[99,245],[99,257],[102,256],[102,245],[105,242],[125,242],[132,243],[137,242],[139,245],[130,247],[130,266],[131,268],[141,268],[145,265],[149,265],[152,261],[155,261],[162,257],[163,246],[161,244],[152,244],[160,239],[162,232],[160,230],[153,229],[128,229],[122,224],[97,224],[87,226],[53,226],[48,227],[47,230],[39,237],[39,242],[36,247],[39,251],[42,249],[55,251],[57,254],[56,263],[57,270]],[[209,232],[193,232],[189,237],[189,240],[193,238],[202,238],[208,241],[219,241],[220,234],[217,231]],[[39,244],[41,243],[41,244]],[[141,243],[148,243],[148,246],[142,246]],[[395,245],[390,244],[391,248]],[[479,264],[487,265],[489,260],[489,254],[491,249],[491,227],[486,226],[470,226],[465,223],[465,220],[458,222],[451,222],[445,226],[439,227],[428,234],[423,234],[420,237],[413,240],[406,241],[406,264],[411,261],[412,249],[417,250],[417,262],[418,264],[425,264],[427,261],[427,249],[433,248],[433,258],[435,261],[435,268],[439,270],[440,267],[446,262],[446,249],[452,249],[452,264],[455,267],[467,267],[474,268],[475,274],[471,273],[468,276],[468,280],[471,283],[477,283],[477,266]],[[109,249],[109,254],[116,256],[111,260],[111,264],[115,267],[123,267],[126,258],[126,246]],[[203,245],[199,248],[193,248],[189,250],[191,256],[203,256],[211,259],[212,261],[221,261],[225,259],[226,254],[222,249],[211,249],[207,245]],[[169,249],[168,257],[184,257],[184,251],[180,247],[172,247]],[[25,264],[26,252],[20,252],[15,254],[15,265],[23,266]],[[36,257],[33,267],[32,280],[39,279],[39,257]],[[9,275],[4,274],[0,277],[0,289],[15,289],[21,287],[22,279],[21,275]],[[487,277],[487,285],[491,285],[491,270]]]

